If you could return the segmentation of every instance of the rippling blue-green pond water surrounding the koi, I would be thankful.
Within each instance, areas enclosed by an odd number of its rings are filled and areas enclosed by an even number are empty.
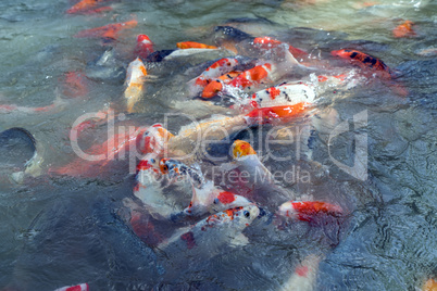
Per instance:
[[[322,258],[315,290],[421,290],[437,276],[435,2],[123,0],[104,1],[110,11],[65,13],[73,4],[0,3],[0,105],[16,106],[0,107],[0,130],[25,128],[38,152],[37,165],[23,177],[13,174],[16,165],[2,162],[0,168],[0,290],[55,290],[82,282],[90,290],[280,290],[311,254]],[[138,24],[122,30],[116,41],[73,37],[133,18]],[[405,20],[414,23],[416,36],[395,38],[391,30]],[[396,78],[372,77],[351,89],[328,90],[313,116],[287,124],[291,131],[314,126],[311,157],[300,156],[298,142],[267,150],[271,126],[238,136],[254,137],[253,148],[273,173],[292,175],[280,181],[283,188],[341,206],[341,219],[277,227],[272,219],[285,200],[272,198],[260,205],[266,214],[245,229],[249,243],[244,246],[224,245],[207,257],[160,251],[125,218],[123,200],[135,199],[129,160],[78,173],[83,175],[52,169],[77,159],[70,130],[87,113],[111,107],[115,122],[107,118],[85,129],[83,149],[102,144],[111,124],[122,130],[165,123],[177,134],[191,122],[188,115],[198,121],[232,115],[223,102],[204,105],[210,101],[192,99],[186,90],[188,80],[226,52],[149,63],[147,89],[133,113],[126,112],[123,98],[138,34],[147,34],[157,51],[173,50],[187,40],[213,45],[214,27],[224,24],[292,43],[326,61],[323,74],[332,67],[359,69],[329,54],[351,48],[384,60]],[[99,66],[97,60],[109,50],[109,63]],[[73,87],[67,81],[72,72],[79,79]],[[48,111],[29,110],[53,102],[58,105]],[[333,135],[340,124],[348,129]],[[365,154],[358,153],[358,144]],[[226,154],[229,144],[223,147],[215,152]],[[2,159],[14,151],[0,149]],[[272,153],[291,157],[269,159]],[[364,168],[358,176],[339,166],[357,163]],[[216,164],[200,165],[207,178],[223,184],[211,174]],[[177,190],[170,194],[182,195]],[[161,228],[171,235],[193,222],[165,222]]]

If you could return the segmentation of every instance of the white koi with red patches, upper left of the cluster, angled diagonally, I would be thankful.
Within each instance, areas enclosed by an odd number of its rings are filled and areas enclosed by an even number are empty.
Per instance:
[[[200,76],[188,83],[191,94],[198,94],[212,79],[232,72],[236,65],[238,60],[235,58],[223,58],[214,62]]]

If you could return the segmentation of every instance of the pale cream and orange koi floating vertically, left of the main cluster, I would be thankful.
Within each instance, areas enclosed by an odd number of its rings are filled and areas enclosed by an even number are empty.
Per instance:
[[[137,58],[127,67],[124,98],[127,99],[127,112],[132,113],[134,105],[141,99],[147,71],[142,61]]]

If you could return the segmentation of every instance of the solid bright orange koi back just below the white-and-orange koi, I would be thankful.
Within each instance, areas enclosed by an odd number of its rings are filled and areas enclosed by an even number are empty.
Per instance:
[[[310,103],[300,102],[295,105],[257,107],[245,115],[249,126],[259,124],[287,123],[309,111]]]

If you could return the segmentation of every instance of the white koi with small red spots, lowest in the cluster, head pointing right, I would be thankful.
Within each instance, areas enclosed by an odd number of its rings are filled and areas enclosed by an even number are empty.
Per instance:
[[[229,208],[213,214],[196,225],[176,231],[158,249],[164,252],[196,252],[197,258],[211,257],[227,244],[246,244],[248,239],[241,233],[259,216],[255,205]]]

